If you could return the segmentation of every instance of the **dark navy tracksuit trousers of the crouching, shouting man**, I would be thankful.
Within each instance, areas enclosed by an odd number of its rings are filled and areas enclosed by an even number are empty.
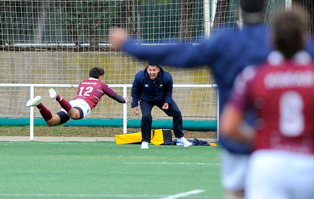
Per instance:
[[[150,135],[152,130],[152,109],[154,106],[159,107],[163,110],[169,117],[172,117],[173,133],[176,138],[181,138],[183,134],[183,120],[181,111],[179,110],[176,102],[172,99],[171,105],[169,105],[168,110],[162,109],[164,102],[144,102],[140,101],[142,120],[141,120],[141,131],[142,131],[142,141],[150,142]]]

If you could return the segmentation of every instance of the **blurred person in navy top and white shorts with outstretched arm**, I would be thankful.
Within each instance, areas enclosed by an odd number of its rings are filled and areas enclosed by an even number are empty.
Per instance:
[[[264,0],[241,0],[243,29],[217,30],[199,45],[174,44],[145,46],[126,40],[121,29],[112,30],[113,46],[135,57],[176,67],[211,67],[219,92],[221,113],[236,75],[247,65],[265,60],[271,51],[269,31],[263,26]],[[219,134],[224,146],[221,181],[227,198],[243,198],[247,158],[251,146],[238,144]]]

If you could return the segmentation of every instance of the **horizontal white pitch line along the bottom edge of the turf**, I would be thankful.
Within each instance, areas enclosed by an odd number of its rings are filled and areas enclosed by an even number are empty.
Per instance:
[[[34,196],[34,197],[102,197],[102,198],[147,198],[147,197],[162,197],[165,194],[58,194],[58,193],[0,193],[0,196],[15,196],[15,197],[25,197],[25,196]]]

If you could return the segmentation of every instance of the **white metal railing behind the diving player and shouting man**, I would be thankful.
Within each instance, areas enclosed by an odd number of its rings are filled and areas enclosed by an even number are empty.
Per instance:
[[[127,88],[132,84],[108,84],[108,86],[123,87],[123,97],[127,97]],[[34,87],[78,88],[78,84],[0,84],[0,87],[30,87],[30,97],[34,97]],[[216,84],[174,84],[174,88],[212,88]],[[219,95],[217,94],[217,139],[219,141]],[[127,104],[123,104],[123,133],[127,133]],[[34,140],[34,107],[30,107],[30,140]]]

